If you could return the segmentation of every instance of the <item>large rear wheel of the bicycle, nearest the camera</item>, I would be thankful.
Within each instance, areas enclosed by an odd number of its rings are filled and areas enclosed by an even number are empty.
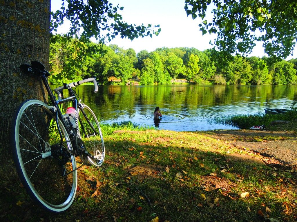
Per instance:
[[[59,126],[62,138],[50,107],[30,99],[18,108],[11,128],[12,154],[20,180],[31,198],[52,212],[67,210],[77,187],[72,145],[61,120]]]

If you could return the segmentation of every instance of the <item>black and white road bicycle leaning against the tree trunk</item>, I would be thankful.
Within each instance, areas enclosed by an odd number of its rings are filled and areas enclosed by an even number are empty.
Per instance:
[[[36,99],[20,104],[11,126],[12,156],[20,177],[30,197],[45,210],[63,212],[72,204],[77,189],[77,170],[86,163],[101,166],[105,157],[104,140],[99,122],[90,107],[78,101],[72,90],[95,78],[63,84],[50,90],[45,66],[38,61],[23,64],[20,69],[39,76],[49,95],[49,105]],[[69,97],[63,98],[68,89]],[[72,102],[75,115],[62,114],[60,104]],[[70,118],[73,119],[70,119]],[[72,120],[72,122],[71,122]],[[82,165],[77,167],[76,158]]]

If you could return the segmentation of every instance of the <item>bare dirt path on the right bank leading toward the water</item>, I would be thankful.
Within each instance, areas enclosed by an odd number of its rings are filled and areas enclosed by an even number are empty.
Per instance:
[[[295,131],[218,130],[205,132],[216,139],[228,140],[240,148],[248,148],[285,165],[297,165],[297,133]]]

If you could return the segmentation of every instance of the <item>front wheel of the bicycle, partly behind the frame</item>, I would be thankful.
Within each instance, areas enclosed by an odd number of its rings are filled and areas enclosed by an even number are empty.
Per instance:
[[[78,136],[83,140],[86,151],[92,156],[88,157],[89,163],[101,166],[105,157],[102,131],[94,112],[85,104],[78,107],[78,125]]]

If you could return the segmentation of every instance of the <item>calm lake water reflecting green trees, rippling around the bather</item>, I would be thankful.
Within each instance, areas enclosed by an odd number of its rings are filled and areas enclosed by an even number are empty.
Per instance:
[[[101,122],[131,120],[156,126],[152,118],[155,107],[159,106],[163,118],[158,127],[176,131],[231,129],[209,125],[207,120],[264,112],[266,107],[286,108],[297,102],[297,86],[101,86],[97,94],[93,88],[83,85],[77,92]]]

